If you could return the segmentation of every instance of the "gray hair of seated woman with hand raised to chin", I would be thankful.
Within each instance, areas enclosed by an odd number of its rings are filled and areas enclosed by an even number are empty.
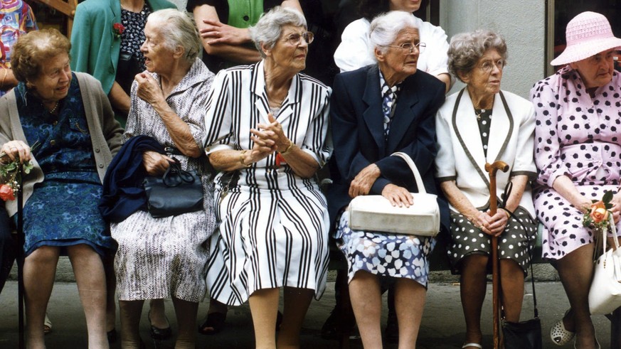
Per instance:
[[[184,59],[193,63],[201,52],[201,39],[198,29],[192,19],[176,9],[155,11],[149,15],[147,21],[156,21],[159,24],[159,33],[164,40],[164,47],[174,51],[177,46],[184,48]]]

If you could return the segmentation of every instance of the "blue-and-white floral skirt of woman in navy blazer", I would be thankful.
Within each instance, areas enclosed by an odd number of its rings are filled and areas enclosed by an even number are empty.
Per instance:
[[[349,281],[363,270],[378,276],[413,279],[427,287],[428,256],[435,247],[434,238],[351,230],[346,210],[334,237],[347,259]]]

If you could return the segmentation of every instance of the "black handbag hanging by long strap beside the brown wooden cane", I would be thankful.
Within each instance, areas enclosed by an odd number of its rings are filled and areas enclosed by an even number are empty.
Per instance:
[[[507,183],[504,189],[503,200],[506,201],[511,193],[511,182]],[[512,218],[519,222],[526,234],[526,227],[521,224],[520,220],[516,216],[505,210],[511,215]],[[526,235],[528,236],[528,235]],[[502,337],[504,342],[504,349],[541,349],[543,343],[541,340],[541,320],[539,320],[539,311],[537,309],[537,295],[535,292],[535,274],[533,274],[533,248],[529,242],[529,256],[531,257],[531,284],[533,285],[533,304],[534,304],[534,318],[527,321],[510,322],[502,320]]]

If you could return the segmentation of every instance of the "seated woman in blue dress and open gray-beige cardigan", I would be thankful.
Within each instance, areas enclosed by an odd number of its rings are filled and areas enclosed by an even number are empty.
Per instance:
[[[100,83],[72,73],[70,43],[55,29],[18,39],[12,68],[20,81],[0,99],[2,161],[32,161],[23,178],[24,284],[28,348],[45,348],[43,319],[59,254],[68,254],[80,290],[89,348],[108,348],[101,257],[115,249],[97,209],[102,180],[122,129]],[[9,215],[17,211],[8,201]]]

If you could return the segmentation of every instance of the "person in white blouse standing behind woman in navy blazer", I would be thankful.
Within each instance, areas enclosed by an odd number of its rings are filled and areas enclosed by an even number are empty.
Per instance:
[[[388,11],[405,11],[413,13],[420,9],[421,1],[403,0],[356,0],[362,18],[349,23],[341,36],[341,43],[334,52],[334,62],[343,72],[349,72],[366,65],[375,64],[373,45],[368,40],[368,28],[373,18]],[[434,75],[446,84],[450,90],[452,78],[448,71],[447,36],[442,28],[414,16],[420,37],[425,46],[420,46],[417,69]]]

